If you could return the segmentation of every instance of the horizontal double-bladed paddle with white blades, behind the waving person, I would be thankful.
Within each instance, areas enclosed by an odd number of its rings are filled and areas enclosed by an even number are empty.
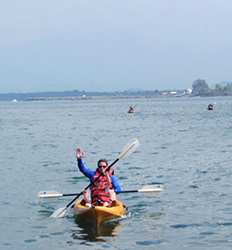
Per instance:
[[[149,186],[149,187],[142,187],[140,189],[133,189],[133,190],[123,190],[118,194],[125,194],[125,193],[152,193],[152,192],[161,192],[163,191],[163,187],[161,185],[157,186]],[[79,193],[70,193],[70,194],[62,194],[57,191],[40,191],[38,193],[39,198],[57,198],[57,197],[65,197],[65,196],[76,196]]]

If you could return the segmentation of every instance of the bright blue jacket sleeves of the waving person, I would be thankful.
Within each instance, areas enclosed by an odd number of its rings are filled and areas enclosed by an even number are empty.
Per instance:
[[[92,182],[93,177],[96,174],[96,170],[92,171],[90,170],[86,164],[82,161],[82,159],[77,160],[77,166],[79,168],[79,170],[86,176],[89,178],[89,180]],[[111,175],[111,182],[112,182],[112,186],[114,188],[115,193],[119,193],[121,191],[121,187],[118,183],[118,179],[116,176]]]

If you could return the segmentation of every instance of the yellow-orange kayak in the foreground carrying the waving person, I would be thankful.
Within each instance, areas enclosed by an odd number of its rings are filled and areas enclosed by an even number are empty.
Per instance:
[[[77,201],[74,204],[73,212],[79,219],[98,227],[106,221],[122,218],[126,215],[127,210],[119,200],[115,201],[112,207],[82,205],[81,201]]]

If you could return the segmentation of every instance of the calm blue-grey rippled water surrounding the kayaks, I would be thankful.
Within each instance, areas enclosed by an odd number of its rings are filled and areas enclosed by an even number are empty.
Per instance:
[[[0,102],[0,131],[0,249],[232,248],[231,98]],[[122,187],[165,191],[121,194],[130,216],[98,233],[71,212],[49,217],[72,197],[39,201],[38,191],[88,184],[77,146],[94,168],[135,137],[141,146],[116,168]]]

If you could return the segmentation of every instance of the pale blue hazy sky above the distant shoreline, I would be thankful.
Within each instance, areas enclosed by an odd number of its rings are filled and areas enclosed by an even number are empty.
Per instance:
[[[231,0],[0,1],[0,93],[232,81]]]

